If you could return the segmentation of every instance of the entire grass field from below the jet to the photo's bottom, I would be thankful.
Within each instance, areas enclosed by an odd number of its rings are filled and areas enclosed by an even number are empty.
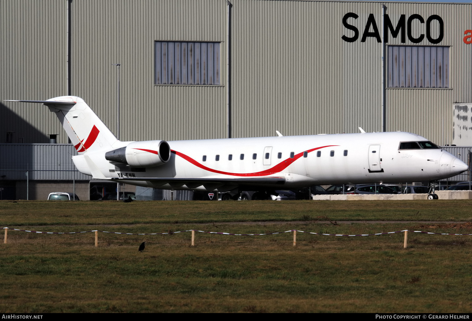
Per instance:
[[[289,222],[303,215],[338,221],[378,220],[380,215],[406,220],[408,214],[402,217],[402,208],[406,213],[415,211],[413,216],[419,211],[415,220],[467,221],[472,216],[469,205],[466,200],[0,202],[0,218],[2,226],[42,231],[264,233],[298,229],[368,234],[409,229],[472,233],[470,223],[430,227],[410,222]],[[312,212],[307,214],[308,210]],[[229,213],[233,220],[226,217]],[[348,213],[359,215],[352,218]],[[199,220],[211,223],[185,223],[198,215],[202,215]],[[288,222],[276,226],[213,223],[245,220]],[[407,249],[403,249],[403,233],[371,237],[298,233],[296,247],[292,233],[243,237],[197,232],[194,247],[190,238],[190,232],[99,233],[99,247],[94,247],[94,233],[9,230],[8,244],[0,246],[0,311],[472,312],[472,236],[410,233]],[[137,249],[143,241],[146,249],[140,253]]]

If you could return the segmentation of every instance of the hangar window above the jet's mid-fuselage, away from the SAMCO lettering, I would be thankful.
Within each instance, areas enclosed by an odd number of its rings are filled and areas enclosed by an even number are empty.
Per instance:
[[[220,43],[154,42],[156,85],[220,85]]]

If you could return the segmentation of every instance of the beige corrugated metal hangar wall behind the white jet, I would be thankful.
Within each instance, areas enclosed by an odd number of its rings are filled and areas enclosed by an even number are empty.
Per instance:
[[[272,136],[381,130],[381,49],[361,42],[370,14],[381,32],[381,2],[232,0],[232,136]],[[387,130],[409,131],[438,144],[452,142],[452,104],[472,102],[471,4],[384,2],[396,25],[439,15],[449,46],[450,89],[388,89]],[[120,63],[122,140],[226,137],[226,0],[72,1],[72,93],[85,99],[116,132],[116,74]],[[0,3],[2,41],[0,99],[47,99],[65,94],[67,1]],[[359,30],[359,39],[342,23]],[[434,28],[433,28],[434,29]],[[412,33],[425,33],[416,20]],[[434,33],[434,32],[433,32]],[[437,34],[433,34],[435,38]],[[221,43],[221,86],[154,85],[154,41]],[[392,45],[428,45],[389,36]],[[0,105],[1,135],[25,142],[45,140],[34,132],[60,133],[46,108]],[[17,115],[17,116],[15,116]],[[28,127],[30,126],[30,127]],[[23,132],[28,132],[28,135]],[[16,138],[15,138],[16,137]],[[31,139],[31,140],[30,140]],[[0,136],[0,141],[4,140]]]

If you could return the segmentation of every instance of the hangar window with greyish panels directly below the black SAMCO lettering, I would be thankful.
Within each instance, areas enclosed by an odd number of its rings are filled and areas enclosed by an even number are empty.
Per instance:
[[[388,46],[390,88],[449,88],[449,47]]]

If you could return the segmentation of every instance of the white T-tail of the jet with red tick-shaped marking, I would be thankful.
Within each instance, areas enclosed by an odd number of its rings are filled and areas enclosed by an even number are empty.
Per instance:
[[[79,154],[87,151],[110,150],[118,139],[85,103],[76,96],[61,96],[48,100],[7,100],[41,103],[57,115],[62,127]]]

